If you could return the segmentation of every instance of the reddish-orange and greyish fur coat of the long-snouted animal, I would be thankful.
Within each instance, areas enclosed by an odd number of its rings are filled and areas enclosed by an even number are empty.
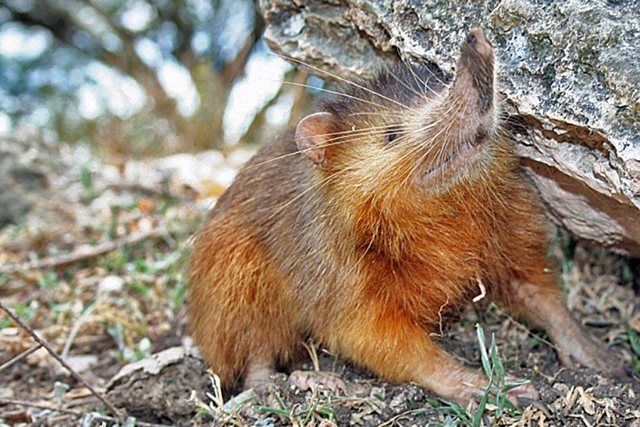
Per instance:
[[[435,123],[407,132],[404,146],[383,147],[373,133],[322,145],[323,120],[335,118],[326,124],[332,135],[388,120],[338,120],[329,108],[309,120],[313,135],[303,144],[322,167],[289,133],[261,149],[218,201],[194,242],[189,309],[191,332],[224,386],[256,359],[286,362],[312,336],[390,381],[466,401],[486,378],[454,362],[429,332],[442,310],[479,293],[479,280],[489,297],[550,330],[566,354],[562,343],[577,343],[582,353],[571,354],[585,363],[603,357],[562,307],[543,214],[508,141],[490,133],[462,172],[421,181],[438,154],[423,141],[462,144],[476,128],[491,129],[491,117],[474,110],[473,69],[464,67],[478,60],[469,55],[446,101],[420,110],[427,101],[419,97],[416,108],[400,109],[415,127],[424,117]],[[299,127],[298,137],[305,132]]]

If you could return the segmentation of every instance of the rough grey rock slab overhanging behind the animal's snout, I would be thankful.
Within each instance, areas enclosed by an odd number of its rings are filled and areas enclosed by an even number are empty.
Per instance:
[[[518,154],[550,216],[640,256],[640,7],[634,1],[260,0],[277,53],[344,78],[402,60],[447,73],[481,26]],[[347,41],[345,43],[345,41]],[[310,70],[323,78],[324,73]]]

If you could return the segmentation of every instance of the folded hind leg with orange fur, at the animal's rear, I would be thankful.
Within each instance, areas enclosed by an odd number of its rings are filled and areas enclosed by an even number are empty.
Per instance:
[[[196,238],[190,270],[190,330],[203,357],[226,389],[240,376],[264,384],[297,338],[287,281],[257,238],[215,224]]]

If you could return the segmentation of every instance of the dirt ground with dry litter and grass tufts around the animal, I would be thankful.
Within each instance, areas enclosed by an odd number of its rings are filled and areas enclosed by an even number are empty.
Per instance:
[[[33,196],[35,208],[23,223],[0,231],[0,302],[63,354],[88,385],[134,416],[136,425],[640,426],[638,261],[561,233],[550,256],[562,272],[567,304],[599,345],[624,360],[626,379],[562,368],[543,332],[494,305],[469,305],[444,319],[442,347],[481,369],[478,323],[487,344],[495,336],[506,373],[533,381],[540,401],[523,411],[496,403],[473,413],[419,386],[387,384],[314,347],[319,368],[341,376],[346,394],[289,386],[287,373],[314,369],[311,359],[302,359],[283,368],[270,394],[224,408],[229,391],[212,384],[215,377],[189,347],[186,333],[183,264],[209,200],[193,186],[154,175],[158,164],[137,165],[150,182],[127,184],[126,174],[95,162],[87,167],[78,154],[60,155],[67,166],[47,171],[53,176],[49,193]],[[2,423],[114,424],[87,384],[45,349],[3,365],[34,346],[4,314],[0,343]],[[151,354],[164,356],[148,359]],[[127,365],[129,371],[120,372]],[[132,418],[127,422],[133,425]]]

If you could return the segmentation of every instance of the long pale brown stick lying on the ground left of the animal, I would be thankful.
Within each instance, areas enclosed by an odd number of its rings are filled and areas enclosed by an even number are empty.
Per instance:
[[[57,268],[62,267],[63,265],[80,263],[81,261],[95,258],[98,255],[115,251],[121,246],[131,245],[132,243],[144,241],[148,238],[161,236],[164,231],[166,231],[164,227],[156,227],[149,231],[132,233],[128,236],[118,238],[112,242],[101,243],[100,245],[93,246],[92,248],[89,248],[87,250],[76,251],[75,253],[70,253],[69,255],[63,255],[56,258],[44,258],[43,260],[37,260],[31,263],[5,265],[3,268],[0,268],[0,274],[16,273],[18,271],[25,272],[28,270],[41,270],[43,268]]]

